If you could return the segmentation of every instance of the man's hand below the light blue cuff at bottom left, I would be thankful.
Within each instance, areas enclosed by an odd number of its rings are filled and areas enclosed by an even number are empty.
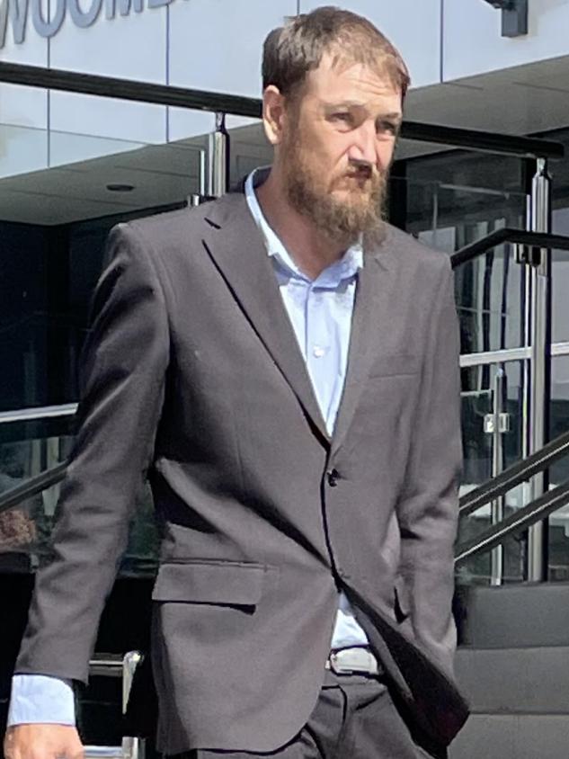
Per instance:
[[[83,744],[71,725],[14,725],[4,737],[5,759],[82,759]]]

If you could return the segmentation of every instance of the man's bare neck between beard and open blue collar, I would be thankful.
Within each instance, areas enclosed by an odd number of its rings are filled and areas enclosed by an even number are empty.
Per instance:
[[[342,258],[349,241],[331,240],[298,210],[292,208],[277,172],[255,190],[265,219],[301,272],[311,280]]]

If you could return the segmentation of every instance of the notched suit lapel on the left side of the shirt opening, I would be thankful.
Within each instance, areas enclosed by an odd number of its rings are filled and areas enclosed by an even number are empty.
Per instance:
[[[206,212],[206,222],[209,230],[203,243],[213,263],[307,417],[328,444],[330,437],[280,297],[271,260],[244,195],[231,192],[212,204]]]

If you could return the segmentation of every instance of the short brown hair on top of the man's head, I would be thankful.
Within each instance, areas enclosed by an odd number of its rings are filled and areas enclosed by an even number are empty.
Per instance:
[[[262,50],[263,90],[274,85],[281,94],[296,96],[325,53],[333,53],[334,62],[375,68],[405,99],[410,76],[396,48],[367,19],[332,5],[292,16],[269,33]]]

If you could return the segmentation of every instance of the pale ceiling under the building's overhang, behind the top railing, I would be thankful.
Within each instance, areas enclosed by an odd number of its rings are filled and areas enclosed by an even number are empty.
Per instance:
[[[569,57],[413,90],[406,118],[515,135],[569,127]],[[232,174],[270,163],[260,125],[233,129]],[[0,219],[56,225],[183,201],[198,192],[203,138],[147,146],[0,180]],[[448,147],[402,140],[398,158]],[[110,192],[125,183],[132,192]]]

